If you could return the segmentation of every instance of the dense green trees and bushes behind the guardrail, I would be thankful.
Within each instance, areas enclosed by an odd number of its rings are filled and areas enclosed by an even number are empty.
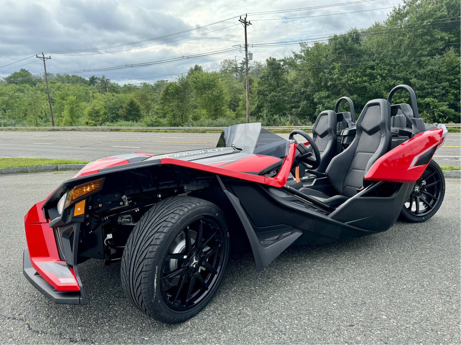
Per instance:
[[[348,96],[360,114],[399,84],[414,88],[426,122],[460,122],[460,0],[404,0],[384,20],[292,56],[250,64],[250,115],[267,126],[309,125]],[[225,126],[245,121],[244,63],[195,65],[175,81],[112,83],[104,75],[49,75],[57,126]],[[409,103],[397,92],[394,103]],[[346,110],[344,108],[344,110]],[[0,125],[50,125],[46,85],[20,69],[0,83]]]

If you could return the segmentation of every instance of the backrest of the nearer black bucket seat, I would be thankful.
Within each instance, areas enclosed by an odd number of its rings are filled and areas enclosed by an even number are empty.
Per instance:
[[[390,150],[390,144],[390,104],[385,99],[373,99],[357,120],[354,141],[331,160],[326,176],[341,195],[355,196],[370,167]]]

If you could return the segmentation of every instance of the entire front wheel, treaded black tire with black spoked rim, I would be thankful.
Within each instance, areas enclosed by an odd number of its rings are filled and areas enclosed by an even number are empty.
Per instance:
[[[120,267],[122,288],[147,316],[183,322],[213,298],[229,253],[221,209],[202,199],[174,196],[150,208],[128,237]]]

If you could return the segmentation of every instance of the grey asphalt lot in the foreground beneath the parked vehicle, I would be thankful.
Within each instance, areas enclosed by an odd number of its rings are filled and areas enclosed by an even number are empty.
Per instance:
[[[0,176],[0,344],[460,343],[457,180],[424,223],[290,247],[259,274],[234,255],[207,307],[166,325],[125,298],[119,263],[79,265],[88,305],[55,305],[23,276],[24,214],[74,173]]]

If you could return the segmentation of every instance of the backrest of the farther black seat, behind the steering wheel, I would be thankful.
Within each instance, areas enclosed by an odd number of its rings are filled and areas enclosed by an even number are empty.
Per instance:
[[[320,165],[315,169],[319,173],[325,173],[332,155],[336,154],[336,118],[333,110],[322,111],[312,127],[312,138],[321,157]]]

